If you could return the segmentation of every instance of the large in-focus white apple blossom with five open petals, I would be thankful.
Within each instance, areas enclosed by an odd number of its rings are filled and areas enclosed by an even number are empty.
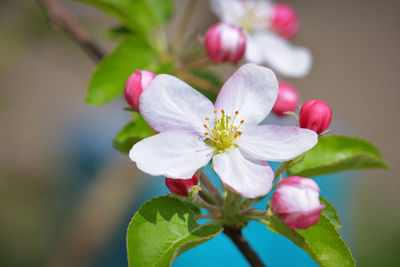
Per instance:
[[[140,112],[158,134],[133,146],[138,168],[190,179],[211,159],[222,183],[244,197],[266,195],[274,173],[267,161],[285,161],[311,149],[317,134],[298,127],[258,125],[278,94],[275,74],[246,64],[222,87],[215,105],[185,82],[158,75],[140,97]]]

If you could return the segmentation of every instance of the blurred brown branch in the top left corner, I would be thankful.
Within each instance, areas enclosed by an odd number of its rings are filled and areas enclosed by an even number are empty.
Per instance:
[[[79,21],[58,0],[37,0],[46,11],[50,24],[65,31],[96,63],[104,57],[103,50],[89,37]]]

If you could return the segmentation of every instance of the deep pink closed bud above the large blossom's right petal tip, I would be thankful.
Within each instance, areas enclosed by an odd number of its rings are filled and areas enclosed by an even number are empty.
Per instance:
[[[301,107],[299,120],[301,128],[307,128],[320,134],[331,124],[332,111],[326,102],[319,99],[308,100]]]

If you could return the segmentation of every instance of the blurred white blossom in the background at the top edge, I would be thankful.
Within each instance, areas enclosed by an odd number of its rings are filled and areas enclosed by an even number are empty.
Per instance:
[[[312,65],[309,49],[290,44],[271,30],[273,4],[268,0],[210,0],[211,9],[222,22],[243,28],[245,58],[267,64],[288,77],[306,76]]]

